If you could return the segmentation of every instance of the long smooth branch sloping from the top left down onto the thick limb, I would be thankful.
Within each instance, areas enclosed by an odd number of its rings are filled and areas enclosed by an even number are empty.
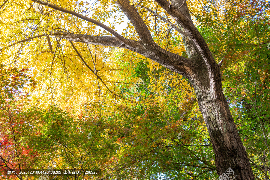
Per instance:
[[[39,4],[42,4],[42,5],[44,5],[44,6],[48,6],[48,7],[50,7],[50,8],[53,8],[53,9],[55,9],[55,10],[58,10],[58,11],[61,11],[61,12],[64,12],[64,13],[71,14],[71,15],[76,16],[76,17],[78,17],[78,18],[80,18],[80,19],[83,19],[83,20],[85,20],[85,21],[92,22],[92,23],[94,23],[95,25],[98,25],[98,26],[100,26],[101,28],[103,28],[103,29],[105,29],[106,31],[108,31],[108,32],[110,32],[111,34],[113,34],[115,37],[117,37],[117,38],[118,38],[119,40],[121,40],[123,43],[129,44],[129,41],[128,41],[125,37],[122,37],[122,36],[121,36],[120,34],[118,34],[116,31],[114,31],[113,29],[109,28],[108,26],[102,24],[102,23],[99,22],[99,21],[96,21],[96,20],[91,19],[91,18],[86,17],[86,16],[82,16],[81,14],[76,13],[76,12],[74,12],[74,11],[72,11],[72,10],[67,10],[67,9],[65,9],[65,8],[55,6],[55,5],[50,4],[50,3],[48,3],[48,2],[44,3],[43,1],[40,1],[40,0],[31,0],[31,1],[37,2],[37,3],[39,3]]]

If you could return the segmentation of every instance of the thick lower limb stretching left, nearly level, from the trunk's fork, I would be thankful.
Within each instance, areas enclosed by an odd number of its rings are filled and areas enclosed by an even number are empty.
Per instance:
[[[88,43],[93,45],[101,46],[121,46],[122,42],[116,37],[99,37],[99,36],[89,36],[82,34],[71,34],[66,32],[54,33],[54,36],[61,37],[69,41],[75,41],[79,43]],[[177,72],[185,77],[189,77],[192,74],[194,66],[197,64],[191,59],[184,58],[182,56],[176,55],[174,53],[168,52],[165,49],[162,49],[159,46],[150,47],[149,49],[145,48],[141,42],[129,40],[131,46],[122,46],[122,48],[130,49],[131,51],[137,52],[140,55],[145,56],[151,60],[154,60],[157,63],[160,63],[165,68],[168,68],[174,72]]]

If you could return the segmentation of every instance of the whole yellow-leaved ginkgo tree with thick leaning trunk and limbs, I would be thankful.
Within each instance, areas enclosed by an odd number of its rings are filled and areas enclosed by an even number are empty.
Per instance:
[[[136,103],[122,95],[119,86],[125,82],[117,81],[118,71],[128,66],[128,61],[121,65],[113,61],[120,57],[112,50],[127,49],[126,58],[131,60],[134,56],[137,61],[146,57],[156,66],[152,70],[162,65],[192,84],[214,150],[217,173],[221,176],[230,167],[237,175],[235,179],[254,179],[223,95],[223,60],[215,61],[193,24],[187,4],[193,12],[203,9],[198,2],[182,0],[1,1],[1,59],[21,67],[32,66],[29,73],[43,82],[37,87],[42,91],[32,93],[35,102],[64,102],[68,107],[76,101],[73,95],[81,101],[90,100],[85,92],[94,100]],[[242,6],[234,1],[221,9],[226,11],[235,4]],[[114,26],[116,19],[121,22],[124,16],[128,25],[119,34]],[[116,21],[105,25],[111,18]],[[174,44],[175,37],[182,39],[185,51]],[[112,63],[105,63],[108,61]],[[78,76],[78,72],[86,75]],[[187,85],[187,81],[184,83]]]

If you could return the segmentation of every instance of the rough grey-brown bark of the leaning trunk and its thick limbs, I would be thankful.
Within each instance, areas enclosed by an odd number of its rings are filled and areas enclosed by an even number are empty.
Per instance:
[[[134,25],[140,41],[128,40],[102,23],[71,10],[50,3],[43,5],[95,23],[115,37],[98,37],[65,32],[52,33],[52,35],[80,43],[130,49],[188,78],[195,90],[199,108],[210,135],[215,153],[217,173],[221,176],[230,167],[235,172],[234,176],[237,175],[235,179],[255,180],[247,153],[222,92],[220,67],[215,62],[202,35],[191,21],[186,2],[172,0],[172,5],[166,0],[155,1],[179,23],[182,31],[185,32],[182,38],[188,58],[159,47],[152,39],[152,35],[140,14],[134,6],[130,5],[128,0],[117,0],[116,4]],[[42,3],[39,0],[36,2]],[[179,9],[179,7],[181,8]]]

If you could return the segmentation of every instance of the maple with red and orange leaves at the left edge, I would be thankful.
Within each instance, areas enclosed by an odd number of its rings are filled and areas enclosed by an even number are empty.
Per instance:
[[[34,112],[24,112],[28,93],[23,86],[35,87],[35,81],[26,74],[27,69],[10,68],[0,64],[0,169],[26,169],[33,162],[40,162],[42,154],[33,152],[26,144],[27,138],[36,132],[31,124],[35,121]],[[42,159],[42,158],[41,158]],[[16,178],[23,179],[16,173]],[[5,177],[1,176],[1,179]]]

